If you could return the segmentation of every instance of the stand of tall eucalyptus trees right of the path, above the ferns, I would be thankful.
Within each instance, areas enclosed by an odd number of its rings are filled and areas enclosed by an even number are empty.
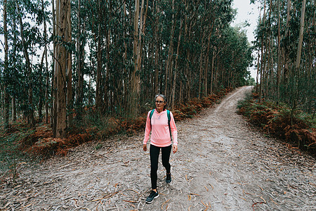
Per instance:
[[[259,2],[263,7],[256,30],[261,49],[259,93],[311,113],[315,107],[315,1]]]

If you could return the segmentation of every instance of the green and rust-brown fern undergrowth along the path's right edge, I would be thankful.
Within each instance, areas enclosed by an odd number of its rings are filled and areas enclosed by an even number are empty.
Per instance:
[[[240,114],[268,135],[284,140],[290,148],[299,148],[316,156],[316,120],[312,115],[291,110],[286,104],[258,103],[256,94],[239,102],[238,108]]]

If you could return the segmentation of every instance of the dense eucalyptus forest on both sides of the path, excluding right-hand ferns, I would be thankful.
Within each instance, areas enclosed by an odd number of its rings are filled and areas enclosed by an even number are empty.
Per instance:
[[[250,44],[232,0],[1,0],[1,136],[103,137],[143,120],[155,94],[185,113],[251,85],[253,63],[260,103],[315,114],[315,1],[257,2]]]

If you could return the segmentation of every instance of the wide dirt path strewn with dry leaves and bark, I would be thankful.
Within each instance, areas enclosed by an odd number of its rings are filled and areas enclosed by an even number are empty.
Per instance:
[[[256,132],[236,114],[251,87],[214,108],[178,122],[179,149],[171,155],[173,181],[161,163],[159,198],[150,191],[143,133],[74,148],[66,158],[25,166],[18,184],[2,186],[8,210],[316,210],[315,159]],[[102,145],[102,146],[101,146]],[[0,209],[1,210],[1,209]]]

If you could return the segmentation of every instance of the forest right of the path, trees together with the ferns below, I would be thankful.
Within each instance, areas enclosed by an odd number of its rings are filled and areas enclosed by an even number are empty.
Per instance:
[[[315,156],[315,1],[257,2],[256,89],[239,112],[268,135]]]

